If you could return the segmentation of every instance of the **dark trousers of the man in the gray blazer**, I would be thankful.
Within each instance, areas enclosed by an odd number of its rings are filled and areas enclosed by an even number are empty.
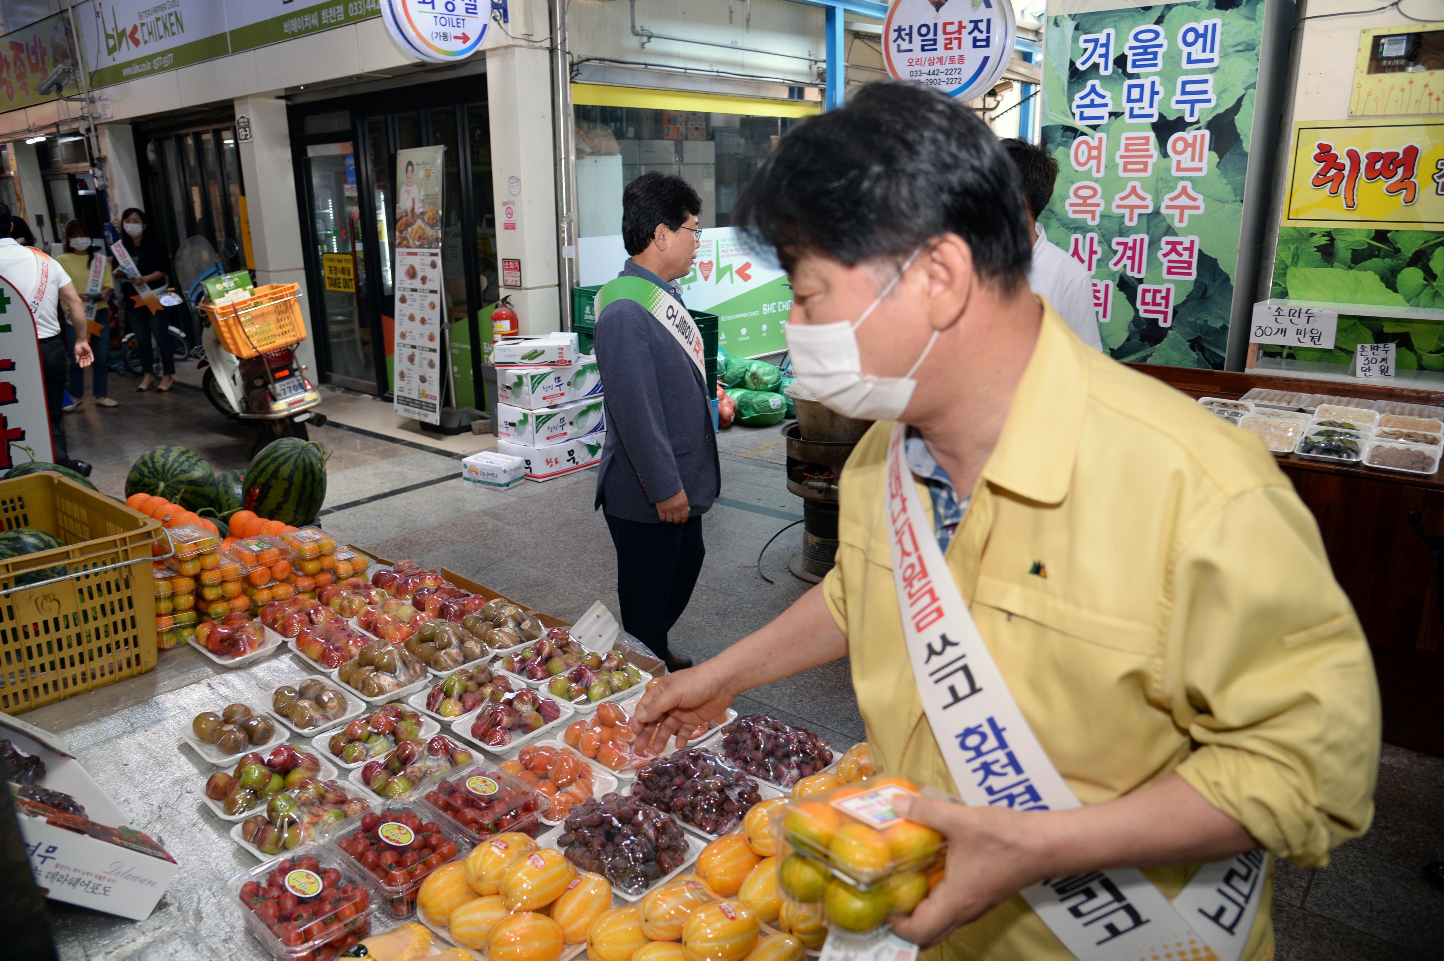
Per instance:
[[[640,524],[606,514],[617,545],[617,599],[622,628],[657,657],[667,657],[667,632],[692,600],[706,547],[702,517],[686,524]]]

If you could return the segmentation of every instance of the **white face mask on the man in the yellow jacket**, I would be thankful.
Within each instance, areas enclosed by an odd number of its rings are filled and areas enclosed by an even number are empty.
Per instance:
[[[862,312],[856,323],[838,320],[836,323],[788,323],[787,349],[793,356],[793,369],[797,379],[822,401],[823,405],[858,420],[898,420],[913,400],[917,381],[913,375],[927,359],[933,345],[937,343],[937,330],[923,348],[923,355],[917,358],[904,377],[872,377],[862,372],[862,355],[858,351],[855,330],[862,322],[878,309],[878,304],[888,299],[902,280],[902,274],[917,260],[918,247],[902,264],[898,276],[888,281],[877,300]]]

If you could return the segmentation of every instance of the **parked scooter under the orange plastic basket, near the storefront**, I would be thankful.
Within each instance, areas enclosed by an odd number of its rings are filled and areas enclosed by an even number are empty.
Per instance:
[[[256,421],[260,427],[247,456],[254,456],[277,437],[306,440],[306,424],[325,424],[326,416],[316,411],[321,407],[321,392],[306,377],[306,367],[296,358],[295,343],[276,346],[251,358],[238,358],[221,343],[206,310],[209,294],[205,281],[224,276],[225,266],[211,242],[204,237],[182,241],[176,250],[175,267],[205,348],[201,387],[206,400],[228,418]],[[211,307],[227,309],[227,304]]]

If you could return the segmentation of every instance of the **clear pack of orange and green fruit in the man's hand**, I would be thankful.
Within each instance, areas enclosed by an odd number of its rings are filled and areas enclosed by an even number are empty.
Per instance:
[[[830,926],[866,932],[910,915],[943,877],[946,841],[901,817],[904,778],[865,778],[775,808],[783,896]]]

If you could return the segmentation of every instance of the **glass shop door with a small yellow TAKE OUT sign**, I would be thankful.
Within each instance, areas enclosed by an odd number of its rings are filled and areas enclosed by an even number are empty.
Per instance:
[[[310,199],[313,276],[325,302],[331,379],[341,387],[374,392],[375,354],[371,322],[361,309],[365,286],[357,157],[351,141],[306,147]]]

